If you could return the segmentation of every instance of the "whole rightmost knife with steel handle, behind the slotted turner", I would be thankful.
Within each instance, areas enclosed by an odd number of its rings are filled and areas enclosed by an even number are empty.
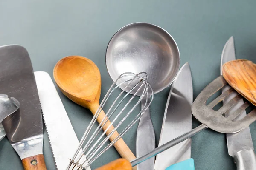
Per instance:
[[[233,36],[226,42],[222,54],[221,54],[221,75],[222,75],[222,65],[225,62],[235,60],[236,52],[234,45]],[[230,86],[225,87],[222,92],[229,89]],[[223,101],[223,103],[227,103],[232,99],[236,94],[230,95]],[[232,110],[236,110],[241,105],[243,105],[244,101],[241,99],[237,104],[232,108]],[[227,116],[227,115],[225,115]],[[246,111],[241,113],[236,120],[242,119],[246,116]],[[250,133],[250,127],[248,126],[246,129],[242,130],[239,133],[227,134],[227,148],[230,156],[234,158],[234,161],[237,166],[237,170],[256,170],[256,155],[253,150],[253,142]]]

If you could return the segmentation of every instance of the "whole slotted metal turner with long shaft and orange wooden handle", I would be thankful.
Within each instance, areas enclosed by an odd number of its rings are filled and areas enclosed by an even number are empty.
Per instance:
[[[215,94],[217,91],[224,87],[228,87],[229,89],[220,96],[213,99],[212,102],[207,104],[207,100],[213,94]],[[230,96],[231,94],[236,94],[234,95],[235,97],[233,97],[233,99],[225,103],[217,111],[213,109],[216,105],[218,105],[219,102],[221,102],[223,99],[225,99],[227,96]],[[192,105],[192,113],[195,118],[197,118],[202,123],[202,125],[196,127],[188,133],[177,137],[176,139],[173,139],[170,142],[167,142],[166,144],[161,145],[160,147],[157,147],[152,152],[137,159],[134,159],[133,161],[131,161],[131,165],[135,166],[137,164],[140,164],[140,162],[156,156],[158,153],[161,153],[164,150],[175,146],[176,144],[194,136],[196,133],[200,132],[201,130],[207,129],[208,127],[220,133],[236,133],[243,130],[256,120],[256,109],[247,114],[247,116],[245,116],[243,119],[235,121],[234,119],[239,116],[239,114],[241,114],[247,107],[252,105],[250,102],[244,102],[244,104],[240,108],[231,112],[230,108],[236,105],[236,102],[239,102],[239,100],[241,99],[243,99],[243,97],[227,84],[227,81],[224,79],[223,76],[218,77],[217,79],[213,80],[209,85],[207,85],[203,91],[201,91],[201,93],[198,95]],[[224,114],[228,116],[225,117]],[[115,162],[117,163],[118,160],[111,162],[109,166],[113,166]],[[105,168],[104,170],[108,170],[108,164],[102,168]],[[103,169],[99,168],[97,170]]]

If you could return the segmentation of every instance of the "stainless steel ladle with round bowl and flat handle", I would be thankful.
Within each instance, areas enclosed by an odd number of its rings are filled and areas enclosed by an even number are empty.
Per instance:
[[[132,23],[121,28],[111,38],[106,51],[106,65],[113,81],[125,72],[138,74],[145,71],[156,94],[173,82],[180,67],[180,54],[175,40],[163,28],[149,23]],[[124,89],[125,85],[120,88]],[[136,90],[137,88],[131,94]],[[136,143],[137,156],[142,156],[155,147],[154,127],[149,110],[140,119]],[[154,158],[137,168],[153,170]]]

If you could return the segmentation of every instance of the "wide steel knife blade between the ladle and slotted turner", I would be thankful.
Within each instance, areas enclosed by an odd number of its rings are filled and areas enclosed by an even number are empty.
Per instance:
[[[184,64],[177,74],[170,90],[163,118],[158,146],[161,146],[192,129],[193,86],[189,63]],[[172,164],[191,157],[191,139],[187,139],[168,150],[159,153],[155,170],[165,170]]]

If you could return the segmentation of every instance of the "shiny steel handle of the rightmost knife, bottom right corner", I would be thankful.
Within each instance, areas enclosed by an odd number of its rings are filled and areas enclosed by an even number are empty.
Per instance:
[[[234,156],[237,170],[256,170],[256,155],[253,149],[240,150]]]

